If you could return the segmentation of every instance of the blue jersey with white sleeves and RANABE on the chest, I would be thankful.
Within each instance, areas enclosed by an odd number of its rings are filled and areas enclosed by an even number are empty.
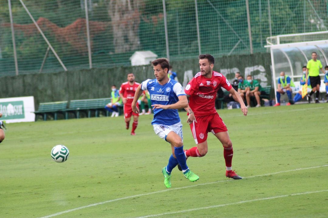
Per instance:
[[[160,85],[156,79],[146,80],[141,83],[142,90],[148,90],[150,99],[153,104],[174,104],[179,99],[178,96],[186,95],[180,83],[169,79],[164,85]],[[153,124],[173,125],[180,122],[180,117],[177,109],[154,109]]]

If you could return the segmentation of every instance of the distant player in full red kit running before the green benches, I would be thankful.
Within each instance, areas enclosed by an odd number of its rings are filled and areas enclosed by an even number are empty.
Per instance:
[[[126,129],[129,129],[131,116],[133,115],[133,124],[132,124],[132,131],[131,131],[131,135],[133,135],[133,136],[135,136],[134,131],[138,125],[139,115],[132,111],[131,105],[132,105],[132,101],[134,98],[135,90],[137,90],[137,88],[140,84],[140,83],[135,82],[134,79],[135,79],[134,74],[129,73],[128,74],[128,82],[123,82],[120,87],[120,90],[119,90],[120,97],[124,104],[123,108],[124,108],[124,120],[126,123]],[[137,106],[138,106],[138,104],[137,104]]]

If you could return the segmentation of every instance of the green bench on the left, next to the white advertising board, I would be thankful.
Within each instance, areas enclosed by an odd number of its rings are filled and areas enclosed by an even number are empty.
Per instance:
[[[34,111],[35,121],[37,120],[37,115],[41,115],[43,120],[47,120],[47,115],[53,115],[53,119],[57,120],[57,114],[65,114],[68,101],[55,101],[55,102],[44,102],[40,103],[38,110]]]

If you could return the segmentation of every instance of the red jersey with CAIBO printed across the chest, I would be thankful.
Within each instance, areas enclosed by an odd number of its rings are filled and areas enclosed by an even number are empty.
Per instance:
[[[190,95],[189,106],[196,117],[216,113],[215,98],[219,88],[232,89],[230,82],[220,73],[213,71],[211,78],[205,78],[201,73],[188,83],[185,93]]]

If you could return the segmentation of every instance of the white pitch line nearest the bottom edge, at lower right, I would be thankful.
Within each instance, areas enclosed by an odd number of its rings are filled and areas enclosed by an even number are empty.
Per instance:
[[[195,210],[219,208],[219,207],[225,207],[225,206],[234,205],[234,204],[243,204],[243,203],[249,203],[249,202],[254,202],[254,201],[271,200],[271,199],[276,199],[276,198],[284,198],[284,197],[296,196],[296,195],[302,195],[302,194],[314,194],[314,193],[320,193],[320,192],[324,192],[324,191],[328,191],[328,189],[327,190],[320,190],[320,191],[300,192],[300,193],[296,193],[296,194],[279,195],[279,196],[274,196],[274,197],[259,198],[259,199],[253,199],[253,200],[248,200],[248,201],[239,201],[239,202],[229,203],[229,204],[219,204],[219,205],[213,205],[213,206],[203,207],[203,208],[193,208],[193,209],[188,209],[188,210],[179,210],[179,211],[175,211],[175,212],[152,214],[152,215],[148,215],[148,216],[140,216],[140,217],[137,217],[137,218],[147,218],[147,217],[170,215],[170,214],[176,214],[176,213],[185,213],[185,212],[190,212],[190,211],[195,211]]]

